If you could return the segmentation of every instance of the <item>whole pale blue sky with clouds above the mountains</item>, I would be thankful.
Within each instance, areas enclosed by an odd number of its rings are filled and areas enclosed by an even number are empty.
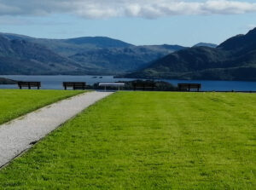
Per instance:
[[[31,37],[192,46],[254,27],[255,0],[0,0],[0,32]]]

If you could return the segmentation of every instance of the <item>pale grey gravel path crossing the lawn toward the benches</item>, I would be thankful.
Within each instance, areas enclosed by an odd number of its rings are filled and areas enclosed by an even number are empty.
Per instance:
[[[0,168],[68,119],[111,94],[87,92],[0,125]]]

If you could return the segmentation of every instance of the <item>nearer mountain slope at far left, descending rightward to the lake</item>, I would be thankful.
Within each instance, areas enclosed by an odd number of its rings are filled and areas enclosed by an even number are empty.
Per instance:
[[[0,35],[0,74],[79,74],[90,69],[38,43]]]

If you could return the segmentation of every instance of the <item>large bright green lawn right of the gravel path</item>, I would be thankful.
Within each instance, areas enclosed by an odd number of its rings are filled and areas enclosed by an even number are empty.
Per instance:
[[[120,92],[0,171],[0,189],[255,189],[256,95]]]

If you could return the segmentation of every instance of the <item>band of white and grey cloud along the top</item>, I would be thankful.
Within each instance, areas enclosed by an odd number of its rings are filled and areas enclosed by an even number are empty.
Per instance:
[[[256,13],[256,3],[238,0],[0,0],[0,15],[76,14],[84,18],[183,14]]]

